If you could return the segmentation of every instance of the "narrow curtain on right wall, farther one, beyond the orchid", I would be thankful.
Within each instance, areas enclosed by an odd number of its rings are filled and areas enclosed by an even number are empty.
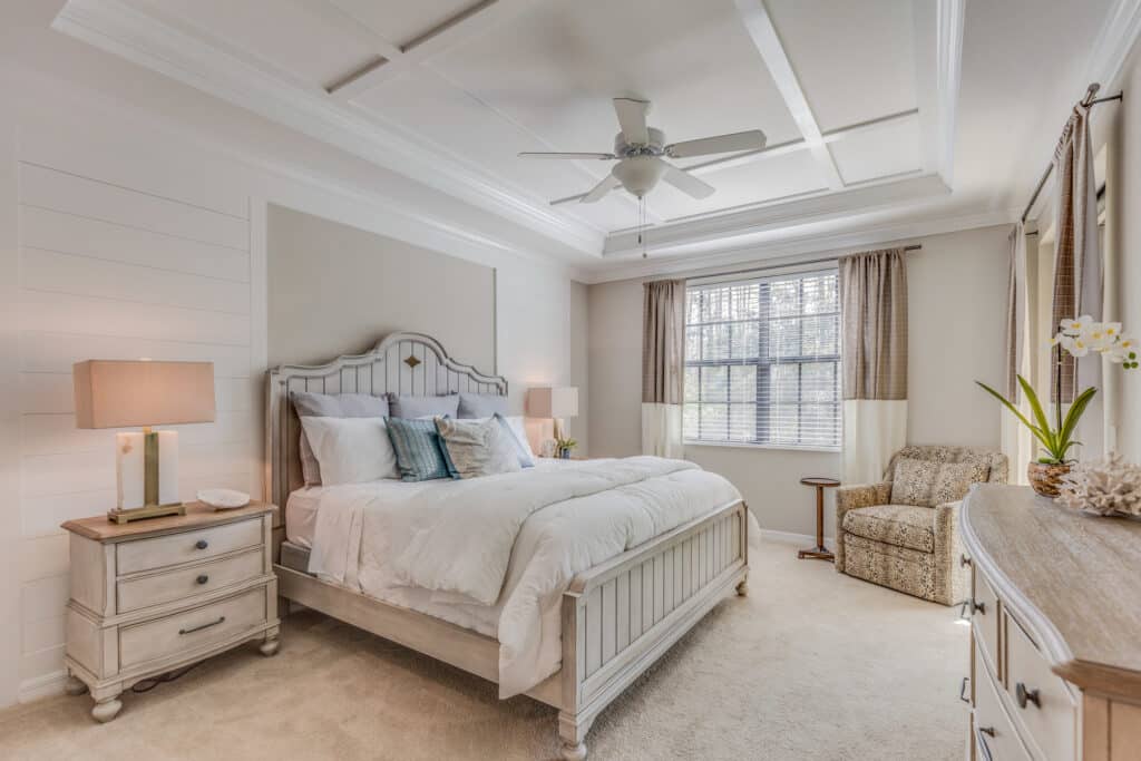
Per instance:
[[[1018,375],[1030,378],[1033,365],[1027,325],[1030,307],[1027,283],[1026,227],[1020,221],[1010,232],[1010,270],[1006,284],[1006,351],[1004,356],[1004,386],[1006,398],[1029,418],[1030,404],[1018,383]],[[1026,469],[1034,458],[1034,438],[1018,419],[1000,408],[1002,451],[1010,460],[1010,480],[1025,484]]]

